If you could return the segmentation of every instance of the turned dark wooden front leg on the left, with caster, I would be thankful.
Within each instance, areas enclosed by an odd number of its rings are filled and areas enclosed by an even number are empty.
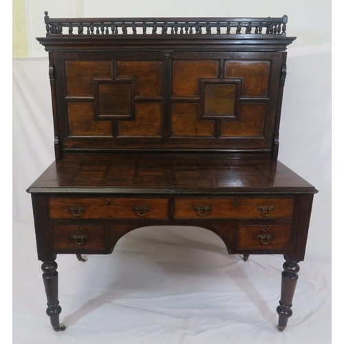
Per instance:
[[[43,283],[47,295],[47,315],[50,316],[50,323],[57,331],[64,331],[67,326],[60,324],[59,315],[61,307],[58,305],[58,272],[56,261],[44,261],[42,264]]]

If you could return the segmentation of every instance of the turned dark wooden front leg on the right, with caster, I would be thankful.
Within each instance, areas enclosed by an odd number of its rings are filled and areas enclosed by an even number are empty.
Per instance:
[[[300,270],[297,263],[297,261],[285,261],[283,264],[281,300],[277,307],[277,313],[279,314],[277,328],[279,331],[283,331],[286,328],[288,319],[292,316],[292,298],[294,297],[297,279],[299,278],[297,272]]]

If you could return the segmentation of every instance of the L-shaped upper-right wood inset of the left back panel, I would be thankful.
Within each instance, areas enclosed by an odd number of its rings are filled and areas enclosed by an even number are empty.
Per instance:
[[[162,95],[162,61],[117,61],[116,78],[134,78],[135,96]]]

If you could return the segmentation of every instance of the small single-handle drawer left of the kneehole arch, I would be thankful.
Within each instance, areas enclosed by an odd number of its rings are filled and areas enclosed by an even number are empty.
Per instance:
[[[52,226],[54,248],[105,248],[103,226],[61,225]]]

